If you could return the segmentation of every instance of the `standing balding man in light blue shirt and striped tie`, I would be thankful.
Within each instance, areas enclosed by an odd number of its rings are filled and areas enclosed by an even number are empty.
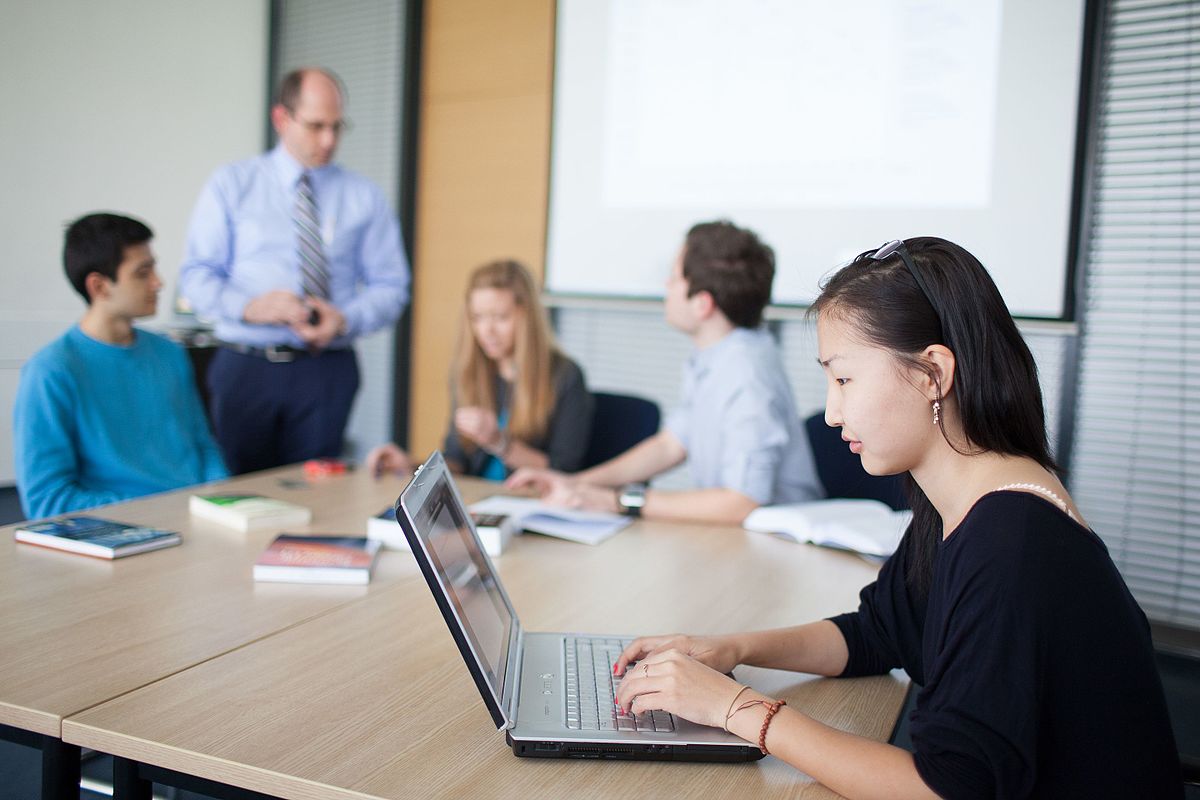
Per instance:
[[[341,455],[359,387],[350,345],[408,301],[388,200],[332,163],[343,100],[328,70],[288,73],[271,108],[278,145],[218,169],[192,213],[180,288],[216,321],[209,393],[235,474]]]

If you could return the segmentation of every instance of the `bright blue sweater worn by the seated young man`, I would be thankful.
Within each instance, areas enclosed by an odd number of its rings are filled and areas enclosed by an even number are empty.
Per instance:
[[[20,371],[17,487],[31,519],[228,476],[187,356],[143,330],[97,342],[78,325]]]

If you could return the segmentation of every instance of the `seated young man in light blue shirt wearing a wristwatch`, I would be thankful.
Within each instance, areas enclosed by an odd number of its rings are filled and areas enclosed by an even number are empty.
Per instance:
[[[695,225],[666,285],[667,321],[691,337],[683,402],[664,429],[604,464],[518,470],[547,503],[654,519],[740,524],[760,505],[823,497],[774,339],[762,325],[774,252],[730,222]],[[688,462],[694,488],[638,483]]]

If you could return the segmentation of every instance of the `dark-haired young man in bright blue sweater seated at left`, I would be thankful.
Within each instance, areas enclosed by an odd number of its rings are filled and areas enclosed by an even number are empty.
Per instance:
[[[67,228],[62,263],[88,311],[25,363],[13,409],[31,519],[228,476],[186,354],[133,327],[162,288],[152,235],[113,213]]]

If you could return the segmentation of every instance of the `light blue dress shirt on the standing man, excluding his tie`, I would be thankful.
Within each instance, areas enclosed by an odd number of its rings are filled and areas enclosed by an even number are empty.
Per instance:
[[[217,338],[252,347],[304,342],[286,325],[251,325],[254,297],[302,295],[295,227],[304,168],[283,149],[218,169],[200,191],[187,229],[180,289]],[[408,302],[408,261],[396,216],[378,186],[336,164],[310,170],[329,261],[330,302],[347,333],[331,348],[396,321]]]

